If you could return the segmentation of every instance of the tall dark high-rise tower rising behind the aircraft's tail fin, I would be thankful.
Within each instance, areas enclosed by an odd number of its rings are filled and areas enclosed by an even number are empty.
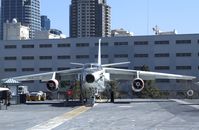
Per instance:
[[[72,0],[70,37],[111,36],[110,10],[106,0]]]

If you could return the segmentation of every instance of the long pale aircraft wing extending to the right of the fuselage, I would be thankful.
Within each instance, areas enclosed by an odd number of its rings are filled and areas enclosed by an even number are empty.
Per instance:
[[[143,80],[155,80],[155,79],[182,79],[193,80],[196,77],[187,75],[177,75],[169,73],[159,73],[151,71],[139,71],[129,69],[117,69],[117,68],[104,68],[106,73],[110,74],[111,79],[115,80],[132,80],[139,76]]]

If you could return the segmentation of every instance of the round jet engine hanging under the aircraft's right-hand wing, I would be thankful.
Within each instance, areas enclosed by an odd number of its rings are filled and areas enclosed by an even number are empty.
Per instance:
[[[132,89],[135,92],[140,92],[144,89],[144,81],[140,78],[136,78],[133,80]]]

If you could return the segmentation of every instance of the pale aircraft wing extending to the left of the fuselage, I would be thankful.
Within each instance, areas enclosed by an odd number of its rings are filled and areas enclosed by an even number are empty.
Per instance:
[[[31,80],[41,80],[41,81],[48,81],[53,78],[56,74],[60,75],[75,75],[80,73],[82,68],[78,69],[69,69],[69,70],[61,70],[61,71],[54,71],[54,72],[47,72],[47,73],[39,73],[39,74],[31,74],[31,75],[24,75],[24,76],[17,76],[17,77],[10,77],[17,81],[31,81]],[[6,81],[7,79],[2,79],[2,81]]]

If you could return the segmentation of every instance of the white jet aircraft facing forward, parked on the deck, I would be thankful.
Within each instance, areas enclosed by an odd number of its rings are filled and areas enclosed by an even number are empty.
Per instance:
[[[30,80],[41,80],[46,81],[46,87],[49,91],[54,92],[59,88],[59,81],[56,78],[59,76],[68,76],[69,79],[80,81],[80,87],[82,92],[90,94],[91,105],[95,103],[95,96],[98,93],[105,91],[108,86],[107,82],[110,80],[130,80],[132,81],[132,90],[140,92],[144,88],[143,80],[154,80],[154,79],[182,79],[182,80],[193,80],[194,76],[176,75],[168,73],[130,70],[130,69],[118,69],[110,68],[111,66],[128,64],[129,62],[112,63],[112,64],[101,64],[101,39],[99,39],[98,47],[98,63],[72,63],[74,65],[82,66],[81,68],[54,71],[47,73],[39,73],[18,77],[11,77],[17,81],[30,81]],[[6,79],[3,79],[6,80]]]

